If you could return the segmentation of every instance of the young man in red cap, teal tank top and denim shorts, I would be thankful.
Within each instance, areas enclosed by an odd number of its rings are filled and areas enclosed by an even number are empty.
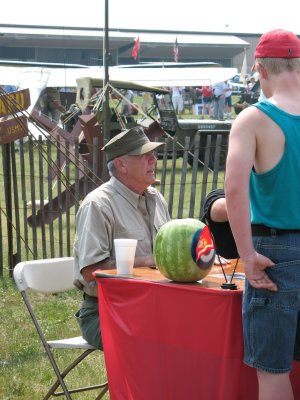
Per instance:
[[[299,360],[300,41],[268,32],[255,50],[268,100],[243,110],[229,138],[225,194],[246,284],[244,361],[256,368],[260,400],[292,400]],[[296,340],[298,335],[298,341]]]

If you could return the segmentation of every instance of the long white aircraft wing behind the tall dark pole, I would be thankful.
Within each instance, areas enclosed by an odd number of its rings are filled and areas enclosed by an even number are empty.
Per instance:
[[[82,77],[104,78],[103,67],[90,68],[42,68],[0,66],[0,85],[24,87],[30,72],[34,79],[46,86],[76,87],[76,79]],[[136,82],[147,86],[205,86],[230,80],[237,74],[236,68],[188,67],[188,68],[122,68],[110,67],[109,79]],[[21,84],[20,84],[21,82]]]

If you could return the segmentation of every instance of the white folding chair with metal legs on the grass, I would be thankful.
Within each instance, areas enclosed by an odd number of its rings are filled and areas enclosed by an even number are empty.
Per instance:
[[[107,382],[78,389],[67,388],[64,380],[67,374],[90,353],[97,349],[89,345],[81,336],[59,340],[47,340],[42,327],[38,322],[38,317],[35,314],[30,297],[27,295],[29,290],[45,294],[53,294],[74,289],[73,265],[73,257],[64,257],[20,262],[14,268],[15,282],[57,377],[56,382],[49,389],[48,393],[44,397],[44,400],[49,399],[51,396],[61,395],[65,395],[67,399],[71,399],[71,393],[101,389],[100,394],[96,397],[96,400],[98,400],[101,399],[108,390]],[[72,361],[63,371],[60,371],[53,355],[53,349],[81,349],[83,352],[77,356],[77,358]],[[56,392],[59,386],[61,387],[62,392]]]

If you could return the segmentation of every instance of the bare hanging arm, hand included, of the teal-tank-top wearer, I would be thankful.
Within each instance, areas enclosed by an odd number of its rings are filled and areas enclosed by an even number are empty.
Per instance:
[[[277,290],[274,282],[265,273],[273,262],[258,254],[252,242],[249,205],[249,180],[257,152],[257,126],[254,121],[258,110],[250,107],[237,117],[229,138],[226,163],[225,194],[230,226],[245,274],[256,288]]]

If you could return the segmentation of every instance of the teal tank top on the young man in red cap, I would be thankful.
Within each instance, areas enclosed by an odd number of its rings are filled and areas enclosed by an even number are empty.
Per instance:
[[[285,150],[271,170],[251,172],[251,223],[300,229],[300,116],[289,114],[267,100],[254,106],[281,128]]]

